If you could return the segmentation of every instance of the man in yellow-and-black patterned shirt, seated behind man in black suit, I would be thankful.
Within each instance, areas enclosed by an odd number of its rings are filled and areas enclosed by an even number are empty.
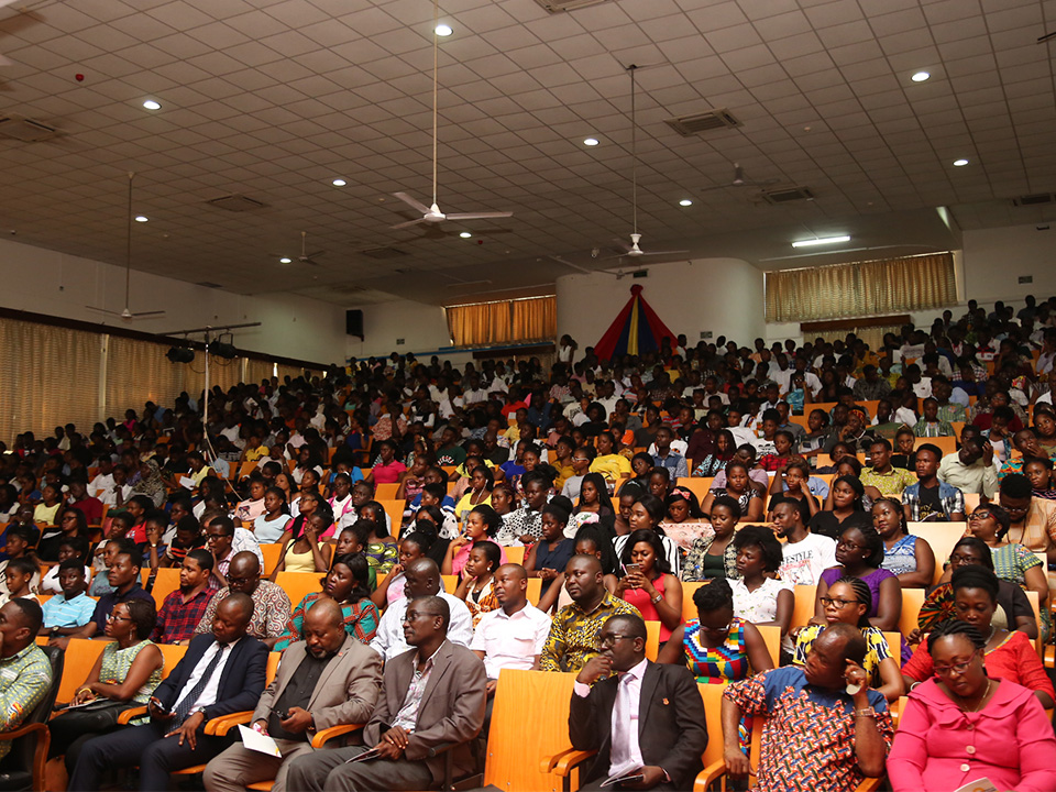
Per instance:
[[[539,668],[578,673],[601,651],[597,636],[609,616],[639,614],[605,588],[602,563],[593,556],[572,557],[564,568],[564,587],[572,604],[554,615]]]

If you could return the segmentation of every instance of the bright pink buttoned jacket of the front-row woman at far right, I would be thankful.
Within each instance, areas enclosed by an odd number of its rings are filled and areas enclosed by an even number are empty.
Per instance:
[[[934,679],[910,693],[888,757],[894,792],[952,792],[989,778],[999,790],[1056,789],[1056,737],[1037,697],[1002,681],[978,713],[966,713]]]

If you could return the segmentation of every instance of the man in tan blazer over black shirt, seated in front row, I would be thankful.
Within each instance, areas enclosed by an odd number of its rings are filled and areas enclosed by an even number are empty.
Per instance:
[[[290,761],[312,751],[316,732],[370,718],[382,681],[377,652],[345,632],[341,606],[331,600],[318,601],[305,614],[304,634],[305,640],[283,653],[253,712],[253,728],[271,735],[282,758],[235,743],[206,766],[208,792],[245,792],[249,784],[271,779],[273,792],[285,792]]]

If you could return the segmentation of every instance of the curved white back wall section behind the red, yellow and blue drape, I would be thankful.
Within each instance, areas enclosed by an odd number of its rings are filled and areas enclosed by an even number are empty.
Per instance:
[[[701,331],[750,344],[766,327],[762,272],[739,258],[645,264],[646,278],[594,273],[558,278],[558,337],[569,333],[580,350],[593,346],[630,299],[630,287],[642,286],[646,301],[674,334],[689,343]]]

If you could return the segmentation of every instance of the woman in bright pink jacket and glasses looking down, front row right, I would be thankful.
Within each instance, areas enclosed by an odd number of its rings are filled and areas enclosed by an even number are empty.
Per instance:
[[[899,721],[887,763],[894,792],[950,792],[982,778],[999,790],[1056,789],[1056,738],[1036,692],[996,675],[988,645],[965,622],[928,636],[935,678],[910,693]]]

